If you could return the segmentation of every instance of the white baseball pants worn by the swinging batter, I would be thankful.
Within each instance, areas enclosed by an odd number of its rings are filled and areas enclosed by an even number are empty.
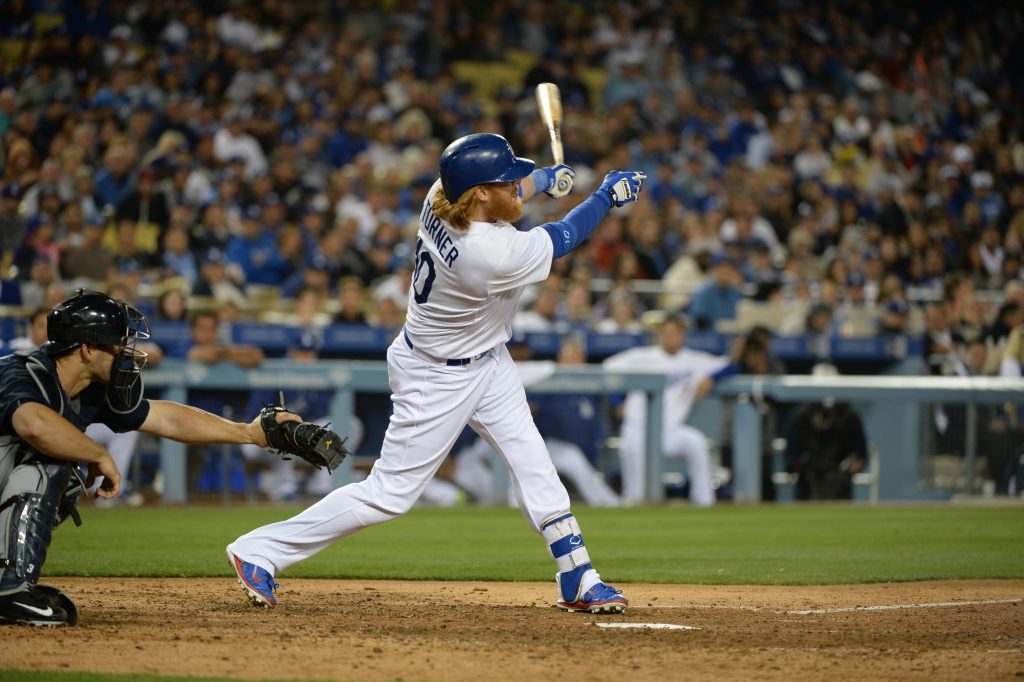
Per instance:
[[[388,348],[394,413],[381,457],[366,480],[340,487],[298,515],[256,528],[228,546],[275,574],[346,536],[410,510],[468,423],[509,467],[535,530],[569,509],[569,498],[537,431],[515,364],[499,346],[447,367],[409,348]]]

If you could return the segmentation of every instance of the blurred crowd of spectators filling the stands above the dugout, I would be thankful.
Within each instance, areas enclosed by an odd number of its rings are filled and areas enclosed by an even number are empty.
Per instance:
[[[8,310],[86,284],[158,321],[397,329],[440,151],[495,131],[546,163],[551,81],[575,194],[649,185],[523,331],[740,331],[753,301],[778,334],[922,334],[936,372],[1020,372],[1012,3],[8,0],[0,32]]]

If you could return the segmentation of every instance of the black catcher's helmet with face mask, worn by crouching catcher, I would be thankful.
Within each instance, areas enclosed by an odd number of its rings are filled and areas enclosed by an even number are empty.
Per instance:
[[[46,353],[59,356],[83,343],[111,346],[114,361],[106,402],[116,412],[131,412],[142,399],[141,372],[148,355],[135,347],[150,338],[150,324],[138,308],[95,291],[79,289],[46,317]]]

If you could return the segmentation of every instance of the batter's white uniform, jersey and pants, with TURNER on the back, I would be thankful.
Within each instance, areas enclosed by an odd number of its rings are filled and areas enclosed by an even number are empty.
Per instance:
[[[555,526],[566,539],[578,537],[574,520],[572,530],[562,528],[571,517],[568,494],[505,347],[523,287],[543,282],[551,270],[551,238],[544,229],[518,231],[507,222],[474,221],[465,230],[455,229],[434,215],[429,199],[418,237],[406,328],[387,352],[394,413],[380,459],[366,480],[228,546],[271,574],[409,511],[466,424],[508,464],[534,528],[550,526],[545,538],[556,538]],[[586,550],[578,544],[583,556]],[[567,559],[559,561],[561,567]],[[595,578],[585,579],[583,589]]]

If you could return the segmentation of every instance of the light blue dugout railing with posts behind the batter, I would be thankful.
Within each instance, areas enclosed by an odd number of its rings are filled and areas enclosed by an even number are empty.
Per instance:
[[[387,367],[379,361],[321,360],[313,366],[271,359],[256,369],[243,370],[220,364],[207,366],[180,360],[165,360],[145,373],[147,387],[159,388],[167,399],[188,401],[188,391],[254,389],[324,389],[333,391],[331,419],[344,434],[354,414],[357,391],[387,392]],[[660,375],[607,372],[597,366],[559,369],[549,379],[530,386],[532,393],[621,394],[639,389],[651,396],[648,411],[646,467],[647,500],[665,497],[664,458],[652,456],[660,451],[660,429],[654,416],[660,413]],[[731,437],[733,447],[733,497],[738,502],[757,502],[762,497],[763,470],[762,422],[759,404],[774,402],[812,402],[826,397],[847,400],[857,406],[869,440],[878,450],[873,471],[878,499],[883,501],[948,498],[945,491],[929,489],[921,484],[921,461],[925,443],[921,429],[923,411],[930,402],[956,402],[967,406],[968,438],[967,476],[973,486],[977,472],[972,429],[976,429],[979,404],[1024,403],[1024,380],[996,378],[944,378],[907,376],[840,377],[749,377],[728,379],[716,387],[722,399],[734,401]],[[185,446],[170,440],[161,441],[160,462],[163,472],[163,500],[187,502]],[[507,486],[507,472],[500,463],[494,466],[496,492]],[[336,484],[351,478],[352,460],[335,472]],[[504,498],[499,498],[504,499]]]

